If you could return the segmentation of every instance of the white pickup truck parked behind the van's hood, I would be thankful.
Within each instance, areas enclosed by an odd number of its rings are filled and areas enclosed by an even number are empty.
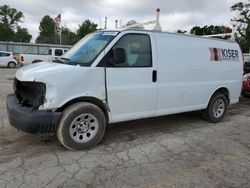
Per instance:
[[[32,63],[39,63],[42,61],[55,61],[58,60],[63,54],[68,51],[66,48],[50,48],[47,55],[38,54],[19,54],[17,59],[22,65],[28,65]]]

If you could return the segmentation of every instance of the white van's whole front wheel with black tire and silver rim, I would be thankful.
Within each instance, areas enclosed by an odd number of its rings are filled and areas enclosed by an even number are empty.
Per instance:
[[[57,138],[70,150],[84,150],[94,147],[105,130],[103,111],[91,103],[79,102],[63,111],[57,127]]]

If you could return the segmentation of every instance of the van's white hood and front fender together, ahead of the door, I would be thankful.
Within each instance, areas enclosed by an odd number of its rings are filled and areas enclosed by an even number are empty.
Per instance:
[[[106,98],[104,69],[101,67],[42,62],[19,69],[16,78],[24,82],[41,82],[46,85],[46,100],[39,109],[54,110],[83,96],[102,101]]]

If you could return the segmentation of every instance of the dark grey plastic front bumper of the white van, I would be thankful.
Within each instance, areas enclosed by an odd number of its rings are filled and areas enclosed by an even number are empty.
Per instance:
[[[27,133],[55,133],[61,112],[35,110],[18,104],[15,94],[7,96],[6,107],[10,124]]]

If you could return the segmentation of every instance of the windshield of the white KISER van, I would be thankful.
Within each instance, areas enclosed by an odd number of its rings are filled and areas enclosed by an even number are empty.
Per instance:
[[[118,32],[98,32],[85,36],[61,60],[66,64],[90,66]]]

